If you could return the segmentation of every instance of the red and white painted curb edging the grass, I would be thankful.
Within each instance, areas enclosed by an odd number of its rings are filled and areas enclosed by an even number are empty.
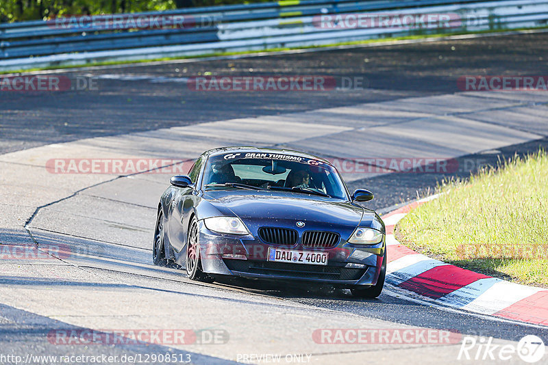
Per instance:
[[[434,198],[436,196],[412,202],[382,217],[388,250],[386,284],[441,306],[548,325],[548,290],[449,265],[414,252],[397,241],[393,234],[397,222],[416,206]]]

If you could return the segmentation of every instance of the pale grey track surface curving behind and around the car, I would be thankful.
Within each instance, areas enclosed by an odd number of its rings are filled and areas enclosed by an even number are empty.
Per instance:
[[[158,198],[176,168],[84,174],[67,170],[67,161],[185,161],[209,148],[242,144],[338,159],[451,159],[545,137],[544,103],[545,96],[536,92],[460,93],[81,139],[0,155],[2,308],[96,330],[223,329],[230,340],[218,346],[162,344],[225,360],[245,361],[238,357],[242,353],[311,353],[313,362],[356,362],[357,353],[368,351],[371,361],[387,355],[423,363],[454,361],[458,342],[445,343],[443,354],[439,345],[421,343],[327,348],[311,335],[319,323],[324,328],[416,327],[197,284],[181,271],[154,267]],[[523,113],[530,118],[524,120]],[[66,163],[65,170],[61,164],[55,170],[59,161]],[[382,173],[388,172],[367,176]],[[358,180],[364,172],[349,171],[344,177]]]

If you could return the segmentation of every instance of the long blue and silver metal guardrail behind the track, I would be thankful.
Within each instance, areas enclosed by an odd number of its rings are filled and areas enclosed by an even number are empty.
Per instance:
[[[406,16],[414,16],[415,22],[402,24]],[[421,23],[416,21],[420,16],[435,19]],[[546,27],[547,23],[548,0],[284,0],[66,17],[0,24],[0,70]]]

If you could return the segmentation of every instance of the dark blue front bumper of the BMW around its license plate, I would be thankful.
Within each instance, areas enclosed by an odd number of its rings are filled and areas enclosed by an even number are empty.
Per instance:
[[[330,249],[310,249],[298,243],[293,250],[329,252],[327,266],[271,262],[269,247],[252,235],[236,236],[212,232],[199,222],[202,269],[206,273],[268,280],[298,280],[371,286],[377,283],[384,254],[384,240],[374,246],[356,247],[340,243]],[[351,264],[351,267],[348,267]]]

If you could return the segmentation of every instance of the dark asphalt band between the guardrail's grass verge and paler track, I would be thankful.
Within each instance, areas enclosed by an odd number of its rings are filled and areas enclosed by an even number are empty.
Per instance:
[[[86,72],[74,70],[67,75],[103,77],[97,80],[97,90],[0,92],[0,153],[213,120],[449,94],[459,91],[456,80],[463,75],[545,75],[547,43],[548,33],[536,33]],[[338,85],[342,77],[363,77],[364,85],[369,87],[327,92],[219,93],[195,92],[174,81],[207,72],[243,76],[325,75],[335,77]]]

